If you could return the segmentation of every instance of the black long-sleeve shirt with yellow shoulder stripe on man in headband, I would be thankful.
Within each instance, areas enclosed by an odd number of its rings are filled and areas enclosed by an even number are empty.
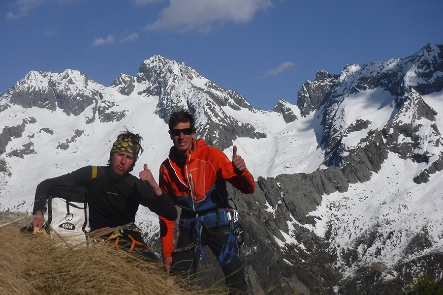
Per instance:
[[[60,177],[46,179],[35,191],[33,212],[43,211],[48,191],[60,184],[70,182],[85,186],[88,191],[89,222],[92,230],[117,227],[135,221],[139,205],[168,220],[177,218],[177,209],[164,192],[157,196],[149,184],[127,174],[124,179],[109,176],[109,167],[97,167],[97,176],[92,177],[92,166],[80,168]]]

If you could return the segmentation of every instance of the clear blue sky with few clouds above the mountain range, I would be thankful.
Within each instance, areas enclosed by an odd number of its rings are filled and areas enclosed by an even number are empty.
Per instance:
[[[0,93],[31,70],[110,86],[161,55],[271,110],[295,104],[318,70],[443,42],[442,11],[442,0],[1,0]]]

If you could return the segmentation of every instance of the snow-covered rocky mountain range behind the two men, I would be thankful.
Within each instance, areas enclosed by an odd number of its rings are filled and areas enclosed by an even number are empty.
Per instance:
[[[227,155],[236,145],[257,181],[252,195],[230,188],[253,292],[396,293],[422,272],[442,275],[442,89],[443,43],[319,71],[297,105],[272,111],[161,56],[110,87],[32,71],[0,96],[0,210],[30,212],[41,180],[105,165],[125,126],[144,138],[134,174],[157,171],[169,115],[188,108],[197,135]],[[137,219],[158,247],[156,216]]]

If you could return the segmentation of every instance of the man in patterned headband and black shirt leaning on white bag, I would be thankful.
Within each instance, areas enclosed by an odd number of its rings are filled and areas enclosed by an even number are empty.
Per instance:
[[[142,205],[168,220],[175,220],[177,210],[158,186],[147,164],[140,172],[140,178],[129,174],[139,153],[143,152],[141,140],[138,134],[126,130],[114,142],[108,166],[86,166],[40,182],[35,191],[33,214],[42,216],[50,189],[66,183],[83,185],[89,192],[87,201],[91,232],[106,233],[105,229],[117,228],[120,234],[119,248],[138,248],[142,259],[157,261],[156,255],[148,250],[139,229],[134,225],[135,214]],[[131,225],[122,228],[128,224]],[[41,218],[32,220],[32,228],[42,228],[43,225]]]

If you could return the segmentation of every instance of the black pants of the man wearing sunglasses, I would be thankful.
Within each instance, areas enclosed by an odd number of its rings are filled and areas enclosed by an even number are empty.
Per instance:
[[[202,246],[207,245],[214,255],[219,259],[221,249],[226,245],[229,236],[229,226],[220,226],[214,228],[203,228],[201,231]],[[194,229],[180,229],[180,235],[177,242],[177,251],[172,256],[172,271],[179,273],[184,278],[193,279],[196,274],[198,261],[200,259],[200,244],[192,246],[196,240]],[[186,249],[186,250],[184,250]],[[207,247],[205,247],[206,250]],[[231,257],[231,248],[226,254],[226,260]],[[238,245],[234,243],[234,256],[232,260],[221,266],[226,280],[226,286],[229,287],[229,294],[246,294],[247,284],[243,271],[243,263],[238,256]],[[204,252],[205,256],[207,253]]]

